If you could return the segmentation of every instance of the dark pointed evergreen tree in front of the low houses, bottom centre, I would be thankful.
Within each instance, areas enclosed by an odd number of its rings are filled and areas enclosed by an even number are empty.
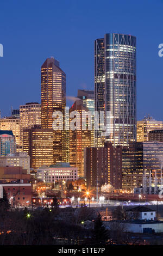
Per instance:
[[[95,243],[105,243],[109,239],[108,231],[105,230],[100,214],[98,214],[97,220],[95,221],[92,238]]]

